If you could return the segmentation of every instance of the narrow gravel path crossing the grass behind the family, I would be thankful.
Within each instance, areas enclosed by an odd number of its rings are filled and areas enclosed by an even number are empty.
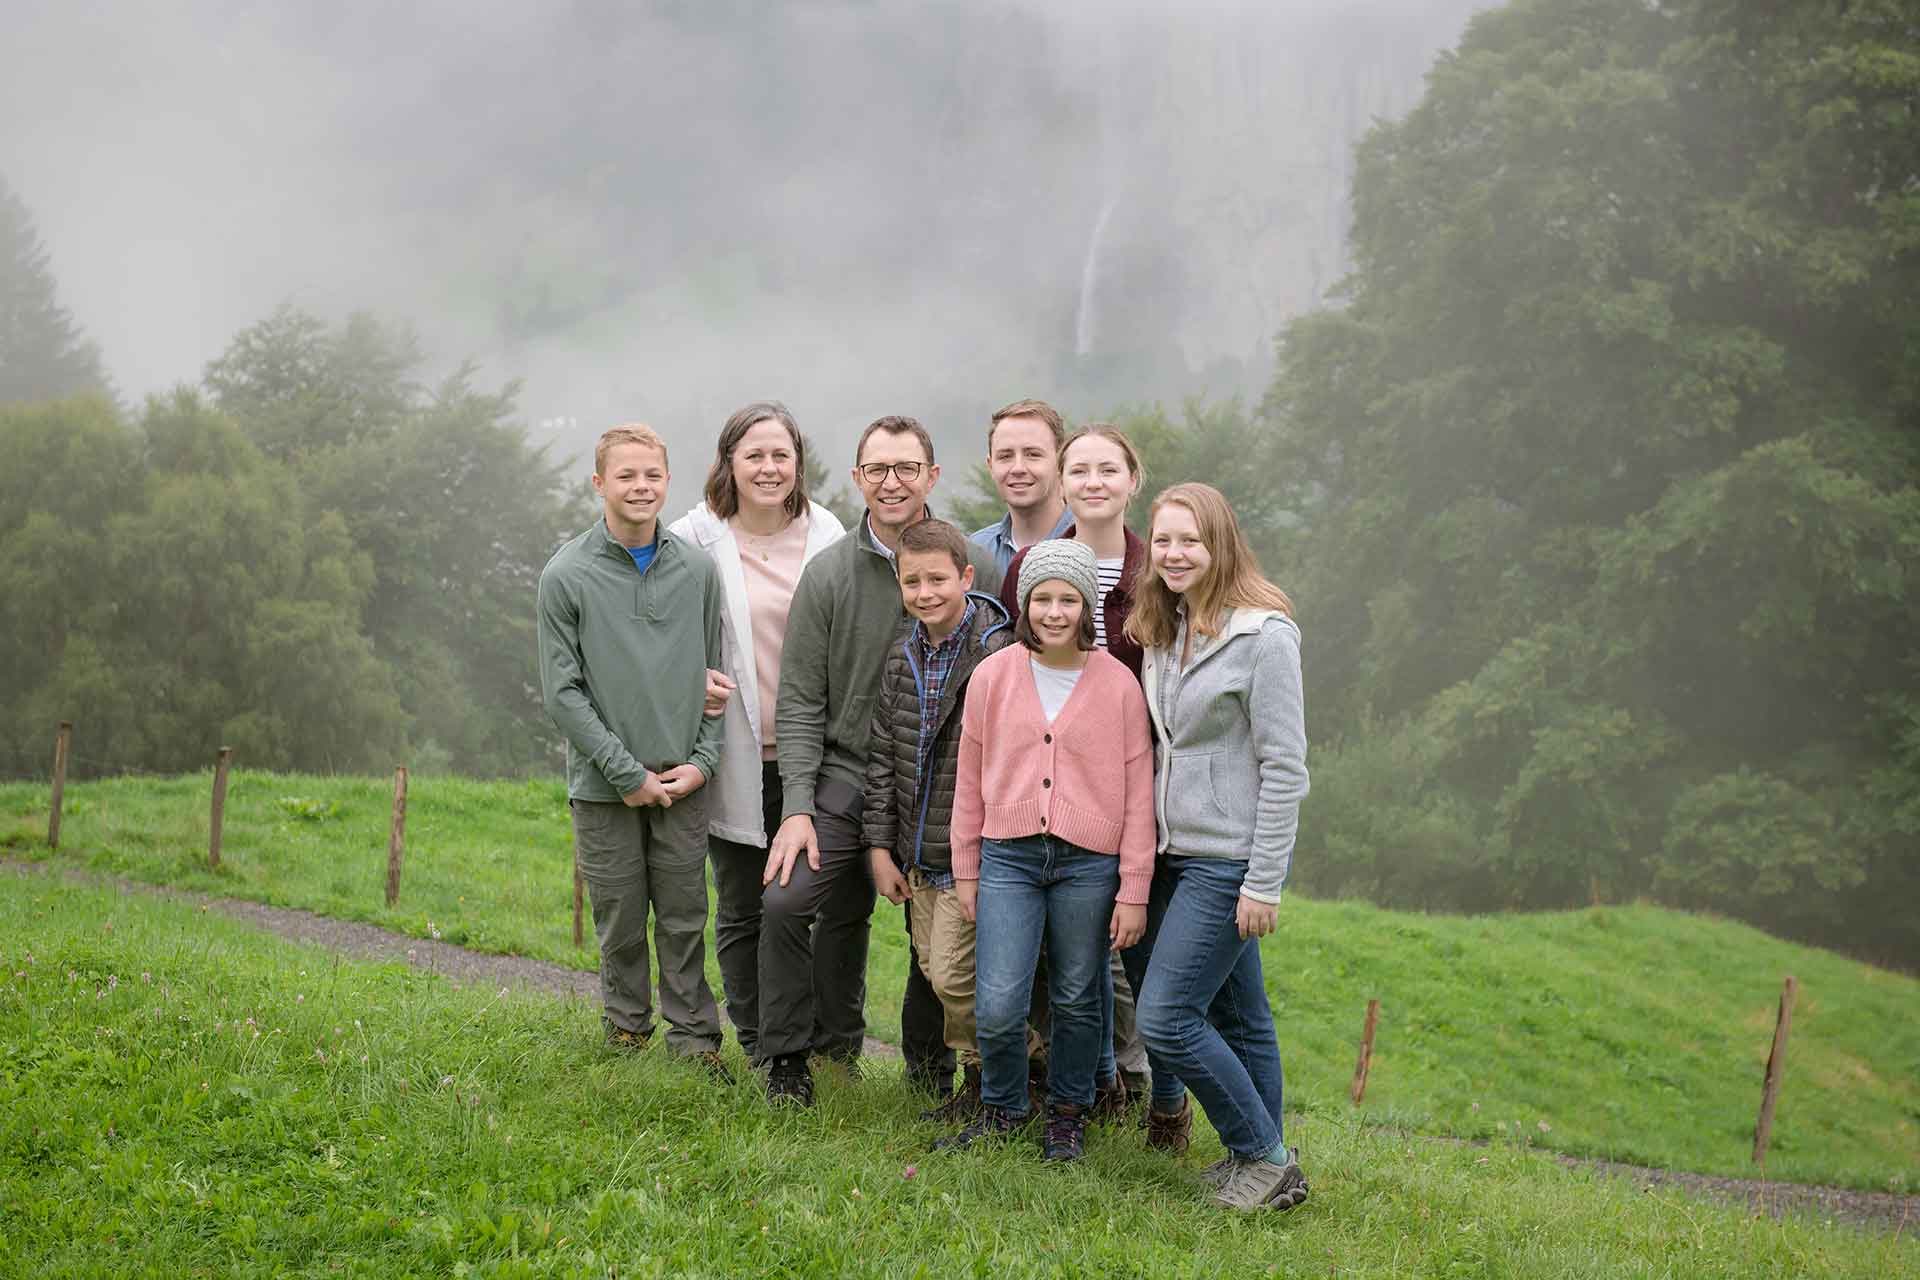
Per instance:
[[[0,867],[6,867],[8,871],[19,875],[29,875],[29,873],[44,875],[46,871],[52,869],[46,864],[13,862],[13,860],[0,860]],[[140,881],[129,881],[123,877],[100,877],[71,867],[61,869],[61,875],[81,883],[94,883],[94,885],[111,883],[121,892],[142,892],[159,898],[177,898],[180,902],[194,902],[217,910],[225,915],[232,915],[234,919],[242,919],[280,938],[288,938],[294,942],[311,942],[315,946],[324,946],[328,950],[336,950],[346,956],[413,965],[415,969],[438,973],[451,983],[493,986],[493,988],[524,986],[530,990],[572,1000],[593,1000],[593,1002],[599,1000],[597,975],[586,973],[582,969],[568,969],[566,965],[557,965],[547,960],[470,952],[463,946],[453,946],[451,942],[411,938],[403,933],[392,933],[388,929],[380,929],[378,925],[363,925],[346,919],[332,919],[328,915],[315,915],[313,912],[265,906],[259,902],[246,902],[240,898],[215,898],[209,894],[190,892],[184,889],[144,885]],[[868,1036],[866,1054],[870,1057],[899,1057],[900,1050],[887,1044],[885,1040],[876,1040],[874,1036]],[[1407,1136],[1421,1138],[1423,1142],[1461,1142],[1459,1138],[1432,1138],[1428,1134],[1407,1134]],[[1476,1142],[1469,1146],[1486,1146],[1486,1144]],[[1613,1161],[1588,1159],[1580,1155],[1555,1155],[1555,1159],[1561,1165],[1567,1165],[1569,1169],[1594,1169],[1597,1173],[1605,1173],[1611,1176],[1630,1178],[1649,1196],[1659,1196],[1663,1188],[1678,1188],[1693,1196],[1707,1196],[1711,1199],[1745,1205],[1751,1213],[1766,1213],[1776,1219],[1786,1217],[1789,1213],[1812,1215],[1822,1219],[1836,1219],[1841,1222],[1853,1222],[1876,1230],[1891,1230],[1895,1234],[1905,1232],[1908,1222],[1920,1228],[1920,1196],[1893,1196],[1889,1192],[1857,1192],[1843,1186],[1811,1186],[1805,1182],[1722,1178],[1703,1173],[1686,1173],[1680,1169],[1644,1169],[1640,1165],[1619,1165]]]

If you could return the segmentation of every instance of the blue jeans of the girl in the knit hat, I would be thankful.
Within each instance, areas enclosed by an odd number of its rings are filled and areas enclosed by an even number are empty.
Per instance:
[[[981,841],[973,919],[973,1023],[981,1088],[991,1107],[1027,1113],[1027,1006],[1046,936],[1050,1040],[1046,1090],[1054,1102],[1092,1105],[1100,1059],[1100,983],[1119,860],[1029,835]]]

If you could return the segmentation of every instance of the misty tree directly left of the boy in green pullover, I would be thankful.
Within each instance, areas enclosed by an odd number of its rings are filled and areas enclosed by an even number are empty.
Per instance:
[[[207,367],[207,388],[269,457],[298,468],[371,572],[365,635],[407,718],[417,768],[524,773],[553,762],[532,679],[532,601],[589,516],[513,420],[518,388],[470,367],[419,380],[411,334],[280,307]]]

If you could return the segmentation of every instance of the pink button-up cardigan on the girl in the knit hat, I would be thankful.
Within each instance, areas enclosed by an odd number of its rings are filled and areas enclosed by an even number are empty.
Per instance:
[[[981,660],[960,714],[954,879],[979,879],[981,837],[1058,835],[1119,854],[1119,902],[1144,904],[1154,879],[1154,743],[1140,681],[1096,649],[1060,716],[1046,723],[1027,666],[1008,645]]]

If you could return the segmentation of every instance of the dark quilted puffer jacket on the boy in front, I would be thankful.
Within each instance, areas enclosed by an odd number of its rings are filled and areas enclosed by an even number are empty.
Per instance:
[[[902,867],[952,871],[954,779],[960,771],[960,704],[966,681],[981,658],[1014,641],[1006,608],[973,591],[960,656],[941,687],[933,712],[933,752],[920,770],[920,652],[914,620],[893,633],[887,666],[874,695],[874,741],[866,758],[866,816],[860,839],[868,848],[891,848]]]

